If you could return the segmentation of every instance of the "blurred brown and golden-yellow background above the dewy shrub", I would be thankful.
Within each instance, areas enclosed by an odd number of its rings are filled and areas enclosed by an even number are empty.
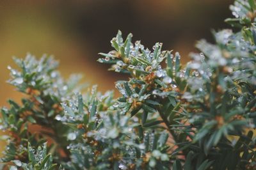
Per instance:
[[[20,94],[6,84],[12,57],[29,52],[60,60],[64,77],[83,73],[84,81],[99,84],[101,91],[114,88],[122,78],[97,63],[99,52],[111,49],[110,40],[120,29],[145,47],[163,42],[163,49],[179,51],[182,62],[196,51],[195,42],[212,42],[211,29],[229,27],[232,0],[91,0],[91,1],[0,1],[0,105]],[[3,143],[0,143],[0,150]]]

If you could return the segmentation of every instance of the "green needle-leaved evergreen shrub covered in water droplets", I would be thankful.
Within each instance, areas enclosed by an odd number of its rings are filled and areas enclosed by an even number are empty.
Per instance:
[[[99,62],[129,74],[116,82],[119,98],[97,86],[79,93],[81,77],[63,80],[52,58],[15,59],[9,82],[25,97],[1,110],[1,160],[10,169],[255,169],[256,3],[230,9],[238,31],[200,40],[187,65],[162,43],[150,51],[118,31]]]

